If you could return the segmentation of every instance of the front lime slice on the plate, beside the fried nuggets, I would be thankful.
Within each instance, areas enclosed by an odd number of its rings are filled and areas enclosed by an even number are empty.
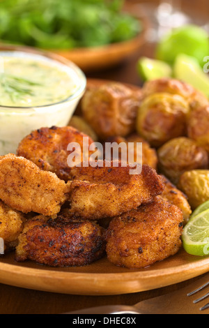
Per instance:
[[[209,210],[190,219],[183,228],[183,248],[192,255],[209,255]]]

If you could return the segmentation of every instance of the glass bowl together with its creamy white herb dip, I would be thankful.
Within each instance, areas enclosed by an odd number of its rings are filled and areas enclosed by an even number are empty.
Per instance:
[[[86,77],[71,61],[0,51],[0,156],[15,154],[31,131],[68,125],[85,89]]]

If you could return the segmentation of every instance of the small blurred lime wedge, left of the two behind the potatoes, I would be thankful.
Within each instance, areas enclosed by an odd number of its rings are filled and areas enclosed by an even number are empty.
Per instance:
[[[161,77],[171,77],[172,68],[164,61],[141,57],[137,70],[143,80],[156,80]]]

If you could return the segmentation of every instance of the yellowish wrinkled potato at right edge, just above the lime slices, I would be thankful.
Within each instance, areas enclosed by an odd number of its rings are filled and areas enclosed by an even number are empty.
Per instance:
[[[180,177],[178,187],[187,195],[192,209],[196,209],[209,200],[209,170],[185,172]]]

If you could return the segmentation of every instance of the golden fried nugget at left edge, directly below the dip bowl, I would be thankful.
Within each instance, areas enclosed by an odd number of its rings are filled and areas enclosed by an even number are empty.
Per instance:
[[[14,154],[0,157],[0,199],[17,211],[56,216],[69,191],[70,182],[65,184],[26,158]]]

